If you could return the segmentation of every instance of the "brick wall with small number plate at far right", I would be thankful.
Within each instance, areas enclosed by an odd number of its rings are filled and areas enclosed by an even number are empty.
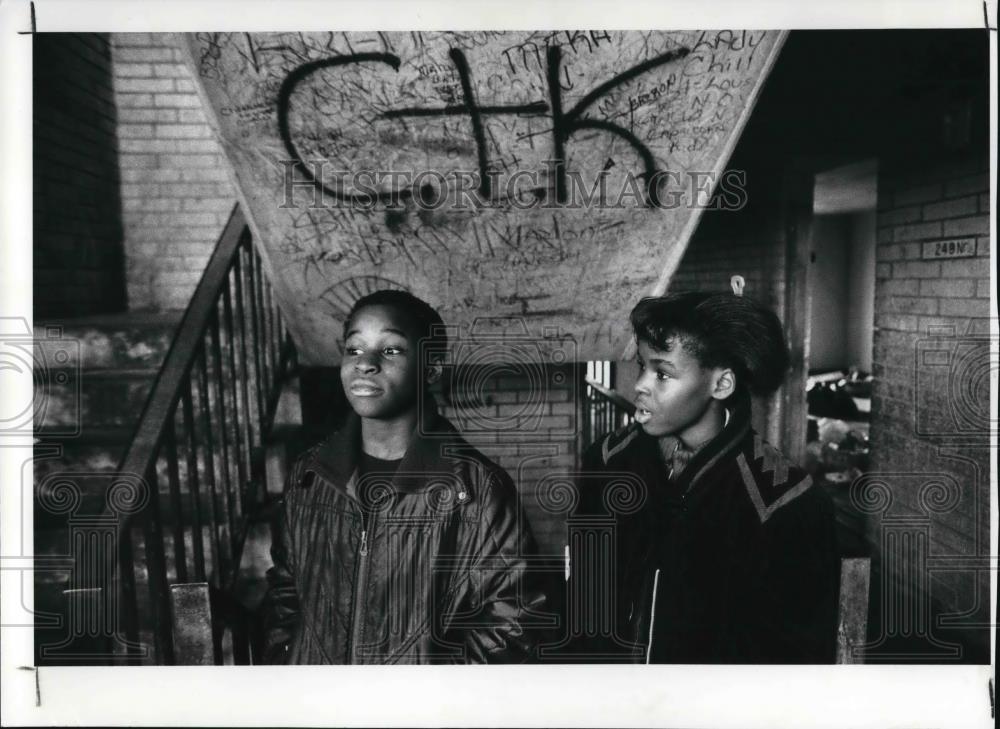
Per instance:
[[[986,154],[880,170],[871,473],[891,503],[870,525],[875,545],[888,519],[917,517],[931,555],[990,553],[988,184]],[[953,238],[972,238],[975,255],[922,257],[925,243]],[[936,480],[954,493],[943,498]],[[919,574],[912,554],[900,565]],[[959,625],[985,619],[988,584],[986,571],[932,566],[935,613],[969,612]]]

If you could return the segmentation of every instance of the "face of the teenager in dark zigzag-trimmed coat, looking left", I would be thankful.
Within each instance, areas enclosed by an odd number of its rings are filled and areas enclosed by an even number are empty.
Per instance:
[[[670,340],[667,351],[642,340],[638,344],[635,420],[649,435],[684,440],[707,416],[715,399],[717,372],[703,368],[679,339]]]

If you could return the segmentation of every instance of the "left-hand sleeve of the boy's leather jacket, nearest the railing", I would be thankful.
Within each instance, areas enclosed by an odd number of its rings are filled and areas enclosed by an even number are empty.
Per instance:
[[[292,468],[285,492],[271,521],[271,562],[267,570],[267,592],[262,612],[264,619],[264,663],[287,663],[292,640],[301,621],[298,591],[295,587],[294,528],[289,519],[288,501],[302,479],[302,462]]]

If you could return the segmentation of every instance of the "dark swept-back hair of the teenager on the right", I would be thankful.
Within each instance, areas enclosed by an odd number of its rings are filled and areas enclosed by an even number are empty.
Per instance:
[[[774,392],[789,366],[781,322],[746,296],[692,292],[642,299],[629,315],[637,340],[667,351],[676,342],[702,367],[728,367],[737,392]]]

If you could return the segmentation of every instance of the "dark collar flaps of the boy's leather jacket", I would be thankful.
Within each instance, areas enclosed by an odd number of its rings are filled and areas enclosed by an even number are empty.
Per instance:
[[[458,431],[438,414],[436,402],[428,395],[421,403],[421,417],[393,477],[393,487],[399,492],[412,492],[426,486],[436,474],[453,473],[458,459],[446,454],[460,451],[463,446]],[[360,454],[361,418],[352,411],[341,428],[316,450],[312,468],[333,486],[349,491]]]

